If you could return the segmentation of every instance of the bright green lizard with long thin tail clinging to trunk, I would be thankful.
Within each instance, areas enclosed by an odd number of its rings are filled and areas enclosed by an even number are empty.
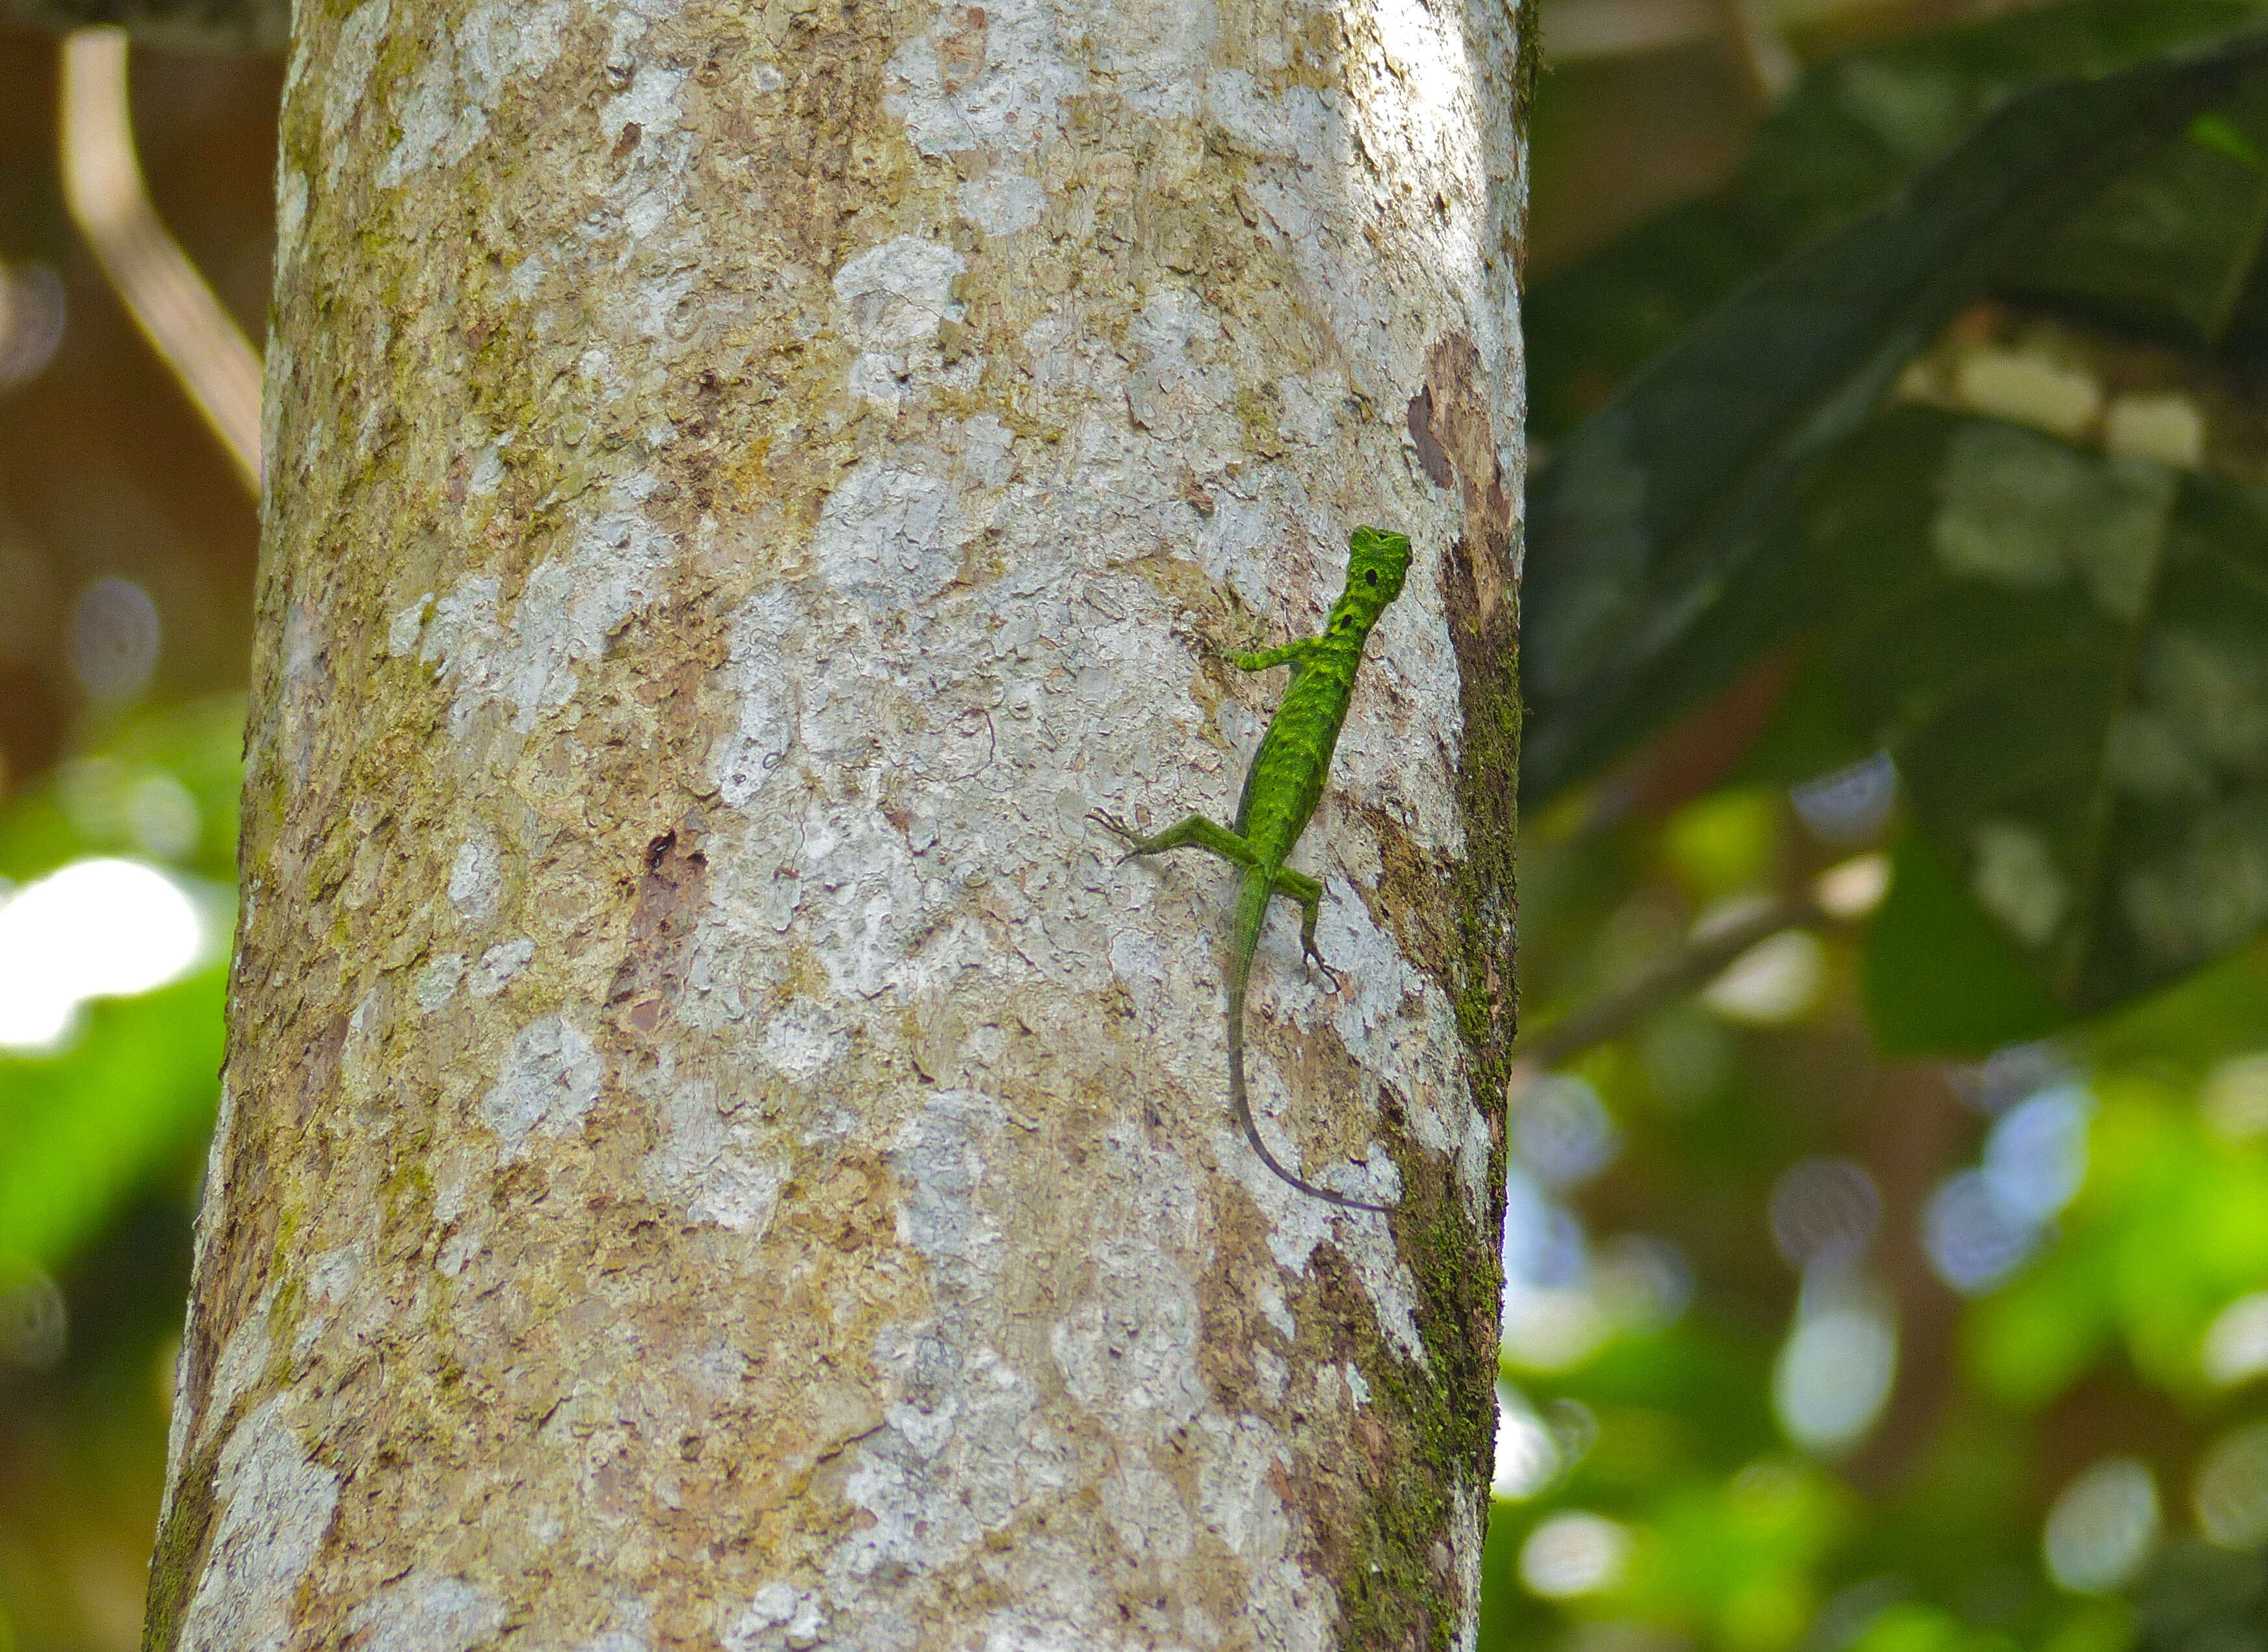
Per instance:
[[[1322,801],[1331,751],[1338,747],[1338,731],[1347,722],[1347,703],[1354,699],[1354,672],[1363,663],[1363,642],[1370,638],[1370,626],[1386,613],[1386,604],[1402,595],[1402,576],[1408,574],[1411,565],[1406,533],[1354,529],[1349,549],[1354,554],[1347,560],[1347,590],[1331,604],[1322,635],[1261,654],[1229,656],[1243,672],[1266,672],[1270,665],[1290,667],[1284,703],[1277,706],[1277,715],[1261,735],[1261,749],[1252,753],[1252,767],[1245,769],[1245,794],[1236,801],[1236,826],[1222,831],[1204,815],[1191,815],[1179,826],[1143,837],[1116,815],[1095,810],[1089,819],[1127,844],[1120,865],[1134,856],[1157,856],[1168,849],[1204,849],[1243,869],[1236,878],[1236,930],[1229,937],[1229,1103],[1236,1107],[1236,1123],[1243,1126],[1252,1150],[1261,1155],[1261,1164],[1302,1194],[1313,1194],[1345,1210],[1383,1212],[1386,1205],[1365,1205],[1359,1198],[1302,1182],[1277,1164],[1275,1153],[1261,1141],[1259,1126],[1252,1123],[1252,1103],[1245,1096],[1245,983],[1252,978],[1252,953],[1261,944],[1261,924],[1268,919],[1268,896],[1281,894],[1300,903],[1300,946],[1331,978],[1331,987],[1338,987],[1338,971],[1322,962],[1322,953],[1315,951],[1315,912],[1322,905],[1322,885],[1284,862],[1315,815],[1315,803]]]

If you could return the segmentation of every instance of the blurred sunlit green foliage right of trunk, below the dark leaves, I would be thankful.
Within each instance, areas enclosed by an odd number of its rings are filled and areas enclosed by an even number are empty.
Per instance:
[[[1703,794],[1535,851],[1545,899],[1526,908],[1524,978],[1540,1021],[1608,989],[1631,951],[1678,944],[1719,896],[1721,867],[1762,865],[1769,883],[1814,862],[1805,828],[1753,796]],[[1721,842],[1735,821],[1744,853]],[[1867,851],[1889,842],[1905,876],[1919,851],[1894,821]],[[1876,1048],[1864,980],[1882,969],[1869,958],[1878,928],[1826,935],[1823,987],[1794,1017],[1660,1003],[1585,1053],[1574,1073],[1619,1141],[1597,1175],[1551,1187],[1549,1132],[1542,1153],[1515,1155],[1510,1495],[1490,1536],[1483,1647],[2268,1645],[2248,1582],[2268,1543],[2268,1477],[2239,1493],[2252,1498],[2243,1543],[2204,1541],[2195,1514],[2216,1441],[2268,1418],[2268,951],[2243,949],[2055,1046],[2019,1046],[2041,1073],[1996,1094],[1994,1062]],[[1948,992],[1964,980],[1960,958],[1903,967],[1948,974]],[[1930,1255],[1932,1200],[1980,1164],[1989,1175],[1996,1153],[2009,1171],[1996,1148],[2007,1121],[2057,1094],[2084,1098],[2068,1203],[1998,1275],[1955,1291]],[[1522,1110],[1535,1105],[1531,1089]],[[1785,1359],[1837,1280],[1792,1266],[1776,1228],[1794,1171],[1821,1157],[1878,1191],[1880,1221],[1844,1284],[1871,1291],[1898,1355],[1860,1434],[1808,1448],[1792,1436]],[[1633,1241],[1674,1255],[1685,1280],[1637,1312],[1617,1307],[1633,1293],[1617,1278]],[[2252,1298],[2248,1343],[2229,1328]],[[2116,1588],[2075,1593],[2050,1573],[2046,1523],[2112,1457],[2148,1466],[2159,1518],[2114,1557],[2127,1568]],[[1551,1523],[1569,1514],[1613,1523],[1622,1554],[1558,1593],[1535,1550],[1549,1559]],[[2182,1568],[2236,1604],[2198,1616]]]

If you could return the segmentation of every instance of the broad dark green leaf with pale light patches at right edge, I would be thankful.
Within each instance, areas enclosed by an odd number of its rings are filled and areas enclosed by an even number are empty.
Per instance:
[[[2268,921],[2268,490],[1903,408],[1805,524],[1853,719],[2066,1012]]]

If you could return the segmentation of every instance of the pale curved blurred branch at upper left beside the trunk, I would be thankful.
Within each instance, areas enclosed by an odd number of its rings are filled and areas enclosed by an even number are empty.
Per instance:
[[[64,200],[111,288],[259,497],[261,359],[150,204],[134,159],[125,30],[64,41],[61,159]]]

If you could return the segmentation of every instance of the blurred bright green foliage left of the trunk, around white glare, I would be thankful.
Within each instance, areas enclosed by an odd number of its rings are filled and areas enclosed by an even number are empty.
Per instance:
[[[84,1005],[54,1051],[0,1051],[0,1647],[127,1645],[141,1616],[220,1089],[240,740],[234,694],[127,715],[0,803],[7,885],[122,856],[211,930],[191,974]]]

